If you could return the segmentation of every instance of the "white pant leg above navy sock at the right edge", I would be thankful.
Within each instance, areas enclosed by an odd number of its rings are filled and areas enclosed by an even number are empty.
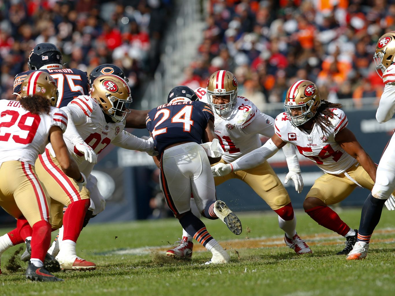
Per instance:
[[[384,150],[378,163],[376,183],[372,195],[378,199],[388,199],[395,189],[395,133]]]

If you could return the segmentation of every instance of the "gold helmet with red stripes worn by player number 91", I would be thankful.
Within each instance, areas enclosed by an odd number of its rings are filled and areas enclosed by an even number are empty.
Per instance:
[[[238,82],[231,72],[226,70],[216,71],[207,81],[207,97],[211,108],[219,115],[231,111],[237,103]],[[230,95],[230,96],[229,96]],[[213,96],[229,96],[229,103],[214,104]]]

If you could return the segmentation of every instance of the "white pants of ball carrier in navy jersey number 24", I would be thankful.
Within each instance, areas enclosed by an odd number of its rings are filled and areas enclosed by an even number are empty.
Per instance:
[[[190,210],[191,193],[199,212],[214,202],[214,177],[203,147],[188,142],[166,149],[160,159],[160,188],[175,215]]]

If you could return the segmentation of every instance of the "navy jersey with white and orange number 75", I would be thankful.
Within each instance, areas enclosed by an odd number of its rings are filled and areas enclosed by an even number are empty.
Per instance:
[[[75,97],[89,94],[89,84],[87,72],[78,69],[43,69],[29,70],[19,73],[14,79],[14,92],[21,93],[21,84],[27,75],[34,71],[49,73],[55,79],[58,86],[59,97],[56,107],[64,107]]]

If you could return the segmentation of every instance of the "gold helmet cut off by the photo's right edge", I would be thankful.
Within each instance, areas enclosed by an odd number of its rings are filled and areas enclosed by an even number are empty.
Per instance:
[[[376,52],[373,55],[378,76],[383,78],[387,68],[393,64],[395,55],[395,31],[388,32],[378,39]],[[380,73],[381,71],[381,73]]]

